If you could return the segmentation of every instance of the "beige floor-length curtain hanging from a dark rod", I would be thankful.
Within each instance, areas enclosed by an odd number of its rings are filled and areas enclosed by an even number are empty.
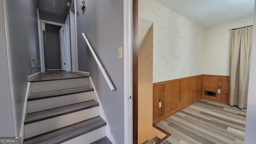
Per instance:
[[[230,66],[230,106],[247,108],[252,27],[233,30]]]

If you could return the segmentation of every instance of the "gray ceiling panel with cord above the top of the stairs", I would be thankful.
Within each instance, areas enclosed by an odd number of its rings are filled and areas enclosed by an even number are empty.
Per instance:
[[[38,10],[57,16],[65,16],[70,0],[36,0]]]

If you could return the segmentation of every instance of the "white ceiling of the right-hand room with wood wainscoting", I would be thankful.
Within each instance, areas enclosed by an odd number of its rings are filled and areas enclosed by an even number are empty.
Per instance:
[[[254,0],[154,0],[203,27],[254,16]]]

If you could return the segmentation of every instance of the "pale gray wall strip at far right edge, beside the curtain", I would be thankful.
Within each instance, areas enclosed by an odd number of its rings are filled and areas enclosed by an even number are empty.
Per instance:
[[[256,3],[255,3],[256,6]],[[254,9],[254,28],[252,36],[252,51],[250,65],[250,80],[248,88],[248,102],[245,126],[245,144],[255,144],[256,142],[256,9]]]

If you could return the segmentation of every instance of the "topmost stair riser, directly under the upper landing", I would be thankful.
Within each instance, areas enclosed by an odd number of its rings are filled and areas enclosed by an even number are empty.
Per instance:
[[[89,78],[71,78],[31,83],[31,94],[89,86]]]

